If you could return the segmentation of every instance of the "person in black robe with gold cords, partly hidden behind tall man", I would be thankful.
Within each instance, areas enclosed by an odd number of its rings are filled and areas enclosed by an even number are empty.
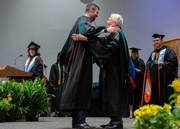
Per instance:
[[[64,66],[60,62],[60,53],[57,55],[57,61],[51,66],[49,76],[49,88],[55,97],[51,97],[51,111],[55,112],[55,117],[63,116],[60,110],[60,100],[62,94],[63,83],[65,79]]]

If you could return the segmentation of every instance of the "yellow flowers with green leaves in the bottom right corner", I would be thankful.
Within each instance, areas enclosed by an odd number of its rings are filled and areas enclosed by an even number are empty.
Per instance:
[[[170,104],[145,105],[134,112],[135,129],[179,129],[180,128],[180,80],[174,80],[171,85],[176,91],[169,99],[177,98]],[[174,106],[172,107],[172,105]]]

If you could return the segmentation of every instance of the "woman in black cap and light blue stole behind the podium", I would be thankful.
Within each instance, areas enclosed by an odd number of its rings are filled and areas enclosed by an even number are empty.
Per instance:
[[[34,42],[28,45],[28,59],[25,63],[24,71],[32,74],[31,79],[43,79],[43,65],[38,56],[38,49],[40,46]]]

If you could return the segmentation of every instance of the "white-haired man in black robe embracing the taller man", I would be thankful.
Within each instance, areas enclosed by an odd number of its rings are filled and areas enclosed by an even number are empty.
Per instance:
[[[122,26],[119,14],[112,14],[107,21],[108,27]],[[93,33],[93,32],[92,32]],[[110,116],[110,122],[103,128],[123,128],[122,116],[127,107],[127,79],[133,76],[133,64],[129,55],[126,38],[120,33],[102,33],[93,36],[72,35],[74,40],[87,40],[95,62],[100,67],[99,86],[101,108]]]

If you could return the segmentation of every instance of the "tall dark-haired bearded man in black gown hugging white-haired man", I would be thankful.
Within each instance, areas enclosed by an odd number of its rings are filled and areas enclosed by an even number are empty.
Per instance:
[[[61,62],[66,67],[66,79],[63,86],[60,108],[73,110],[72,127],[92,128],[86,123],[87,109],[90,107],[92,92],[92,56],[82,42],[75,42],[72,34],[84,34],[96,27],[91,25],[98,17],[99,7],[93,3],[86,6],[85,15],[79,17],[61,51]],[[119,30],[119,29],[118,29]],[[95,33],[109,31],[96,29]],[[102,32],[101,32],[102,33]]]

